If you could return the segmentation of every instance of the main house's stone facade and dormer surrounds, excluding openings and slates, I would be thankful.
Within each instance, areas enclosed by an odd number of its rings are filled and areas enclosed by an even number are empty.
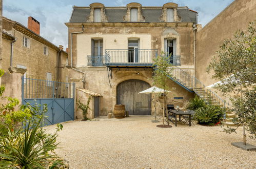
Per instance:
[[[184,71],[193,75],[193,23],[181,22],[181,18],[178,16],[176,4],[166,4],[164,8],[160,8],[163,11],[161,18],[166,17],[166,9],[174,8],[174,20],[175,22],[167,23],[146,23],[145,18],[141,13],[143,7],[138,3],[131,3],[127,5],[127,13],[124,15],[123,23],[93,23],[93,8],[107,8],[103,4],[94,3],[90,5],[91,11],[87,22],[85,23],[66,23],[69,31],[69,65],[78,70],[86,73],[85,89],[101,94],[100,103],[100,115],[107,115],[109,112],[113,112],[114,105],[117,103],[117,86],[129,79],[142,80],[153,86],[152,82],[152,67],[143,68],[132,66],[126,68],[106,66],[91,66],[88,61],[88,56],[92,54],[92,39],[103,40],[103,51],[105,50],[121,50],[127,49],[128,41],[138,39],[139,49],[156,50],[161,54],[165,51],[165,39],[176,39],[176,55],[181,56],[181,66]],[[130,9],[138,8],[138,18],[140,22],[131,23]],[[77,7],[83,8],[83,7]],[[88,8],[88,7],[85,7]],[[113,9],[114,10],[114,9]],[[88,21],[89,20],[89,21]],[[160,21],[160,18],[159,18]],[[79,32],[79,33],[77,33]],[[72,38],[72,44],[71,44]],[[72,52],[72,54],[71,54]],[[105,53],[103,54],[105,55]],[[70,60],[72,58],[72,60]],[[150,62],[153,62],[153,57]],[[111,74],[111,75],[110,75]],[[194,97],[194,93],[190,93],[174,81],[169,81],[169,90],[172,93],[168,94],[168,103],[179,105],[183,107],[184,102],[189,98]],[[81,92],[80,92],[81,93]],[[152,96],[153,98],[154,96]],[[174,99],[175,98],[175,99]],[[176,99],[182,98],[182,99]],[[151,113],[153,114],[153,104],[151,103]],[[158,107],[157,113],[161,114],[162,111]],[[82,117],[81,112],[77,117]]]

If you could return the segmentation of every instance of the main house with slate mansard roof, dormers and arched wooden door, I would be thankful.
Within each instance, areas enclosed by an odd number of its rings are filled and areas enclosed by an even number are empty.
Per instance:
[[[154,96],[137,93],[153,85],[153,58],[161,52],[171,55],[176,74],[176,80],[169,80],[168,103],[183,107],[194,97],[185,82],[194,75],[197,12],[174,3],[161,7],[93,3],[74,6],[65,24],[69,66],[86,73],[85,89],[102,95],[100,115],[112,112],[115,104],[125,104],[131,115],[153,114]]]

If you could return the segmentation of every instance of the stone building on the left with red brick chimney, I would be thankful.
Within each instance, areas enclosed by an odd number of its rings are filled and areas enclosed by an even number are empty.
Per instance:
[[[25,78],[69,82],[68,54],[63,46],[57,47],[40,36],[40,23],[28,18],[28,27],[3,17],[2,85],[5,96],[21,100],[22,76]],[[32,81],[25,79],[24,85]],[[32,83],[31,83],[32,85]],[[47,86],[51,87],[49,83]],[[36,96],[38,97],[38,96]]]

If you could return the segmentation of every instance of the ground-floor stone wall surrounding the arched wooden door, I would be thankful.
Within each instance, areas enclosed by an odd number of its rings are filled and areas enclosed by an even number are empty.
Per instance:
[[[153,82],[151,80],[152,69],[113,69],[112,79],[111,77],[109,77],[108,79],[107,68],[89,67],[83,68],[83,70],[85,70],[86,72],[85,89],[103,95],[103,97],[101,97],[100,115],[107,115],[109,112],[113,112],[114,104],[116,104],[116,89],[119,83],[129,79],[139,79],[148,82],[150,86],[153,85]],[[140,72],[140,74],[137,75],[137,72]],[[175,107],[176,105],[179,105],[179,107],[183,107],[184,102],[194,97],[193,93],[186,91],[184,88],[177,85],[172,80],[169,81],[169,90],[171,90],[172,93],[169,93],[167,95],[167,103],[174,104]],[[76,96],[76,98],[78,97],[80,96]],[[152,95],[152,98],[153,97],[154,96]],[[183,99],[173,99],[173,97],[183,97]],[[153,103],[151,102],[152,114],[153,111],[154,107]],[[157,114],[162,114],[162,111],[158,105]]]

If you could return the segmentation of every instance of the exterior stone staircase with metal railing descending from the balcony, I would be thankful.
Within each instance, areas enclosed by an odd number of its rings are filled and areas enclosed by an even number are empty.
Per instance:
[[[174,82],[189,92],[194,92],[199,97],[203,98],[207,104],[219,105],[220,107],[228,108],[226,102],[216,95],[196,77],[191,76],[177,66],[172,66],[172,77],[169,77]],[[224,124],[234,125],[232,118],[235,117],[231,112],[226,112],[223,117]]]

